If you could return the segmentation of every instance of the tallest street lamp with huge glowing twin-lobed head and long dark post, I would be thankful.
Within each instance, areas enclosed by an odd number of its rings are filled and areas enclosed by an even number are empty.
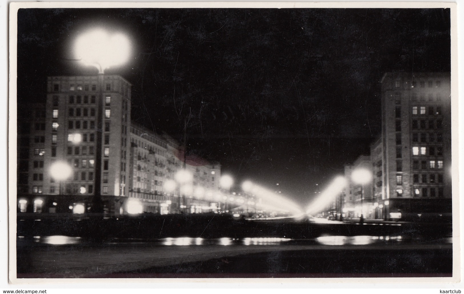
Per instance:
[[[125,63],[130,56],[129,39],[121,33],[109,33],[97,28],[84,32],[74,44],[75,57],[85,65],[91,65],[98,70],[99,96],[97,99],[97,130],[103,129],[103,83],[104,71],[112,66]],[[102,183],[102,132],[97,131],[95,190],[92,200],[92,211],[103,212],[101,199]]]

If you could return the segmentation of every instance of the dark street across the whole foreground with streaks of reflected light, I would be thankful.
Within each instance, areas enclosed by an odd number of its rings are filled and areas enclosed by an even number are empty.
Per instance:
[[[290,221],[267,219],[253,224],[258,228],[261,222],[282,226]],[[316,222],[341,224],[323,219]],[[406,231],[382,235],[379,232],[383,227],[400,228],[400,224],[356,225],[375,228],[371,230],[375,234],[323,233],[308,238],[112,237],[103,243],[80,236],[19,236],[18,277],[451,275],[450,234],[433,236]]]

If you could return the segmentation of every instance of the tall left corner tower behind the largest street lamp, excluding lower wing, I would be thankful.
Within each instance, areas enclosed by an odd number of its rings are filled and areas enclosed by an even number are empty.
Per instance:
[[[41,211],[69,211],[68,203],[60,201],[63,195],[88,198],[97,190],[104,198],[127,193],[124,178],[130,87],[120,76],[48,77],[45,108],[41,110],[45,115],[34,122],[39,129],[34,127],[31,135],[31,140],[39,138],[39,145],[32,148],[29,158],[30,164],[37,161],[41,168],[37,173],[40,183],[34,185],[33,181],[27,188],[28,194],[47,195],[46,199],[37,199],[36,203],[43,206]],[[21,130],[19,134],[22,136]],[[97,152],[101,152],[100,157]],[[52,166],[58,161],[71,167],[68,179],[58,181],[52,177]],[[19,192],[26,192],[26,188]]]

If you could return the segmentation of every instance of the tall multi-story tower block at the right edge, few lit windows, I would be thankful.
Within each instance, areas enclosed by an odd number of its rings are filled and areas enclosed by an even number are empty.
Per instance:
[[[381,84],[387,215],[420,201],[400,199],[451,198],[450,73],[386,73]]]

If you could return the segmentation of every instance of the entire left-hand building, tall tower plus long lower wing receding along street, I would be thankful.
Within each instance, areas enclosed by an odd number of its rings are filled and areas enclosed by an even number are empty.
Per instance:
[[[48,77],[45,104],[19,107],[18,211],[92,211],[94,196],[110,214],[219,210],[220,164],[131,122],[130,88],[120,76]],[[52,176],[57,162],[68,178]]]

